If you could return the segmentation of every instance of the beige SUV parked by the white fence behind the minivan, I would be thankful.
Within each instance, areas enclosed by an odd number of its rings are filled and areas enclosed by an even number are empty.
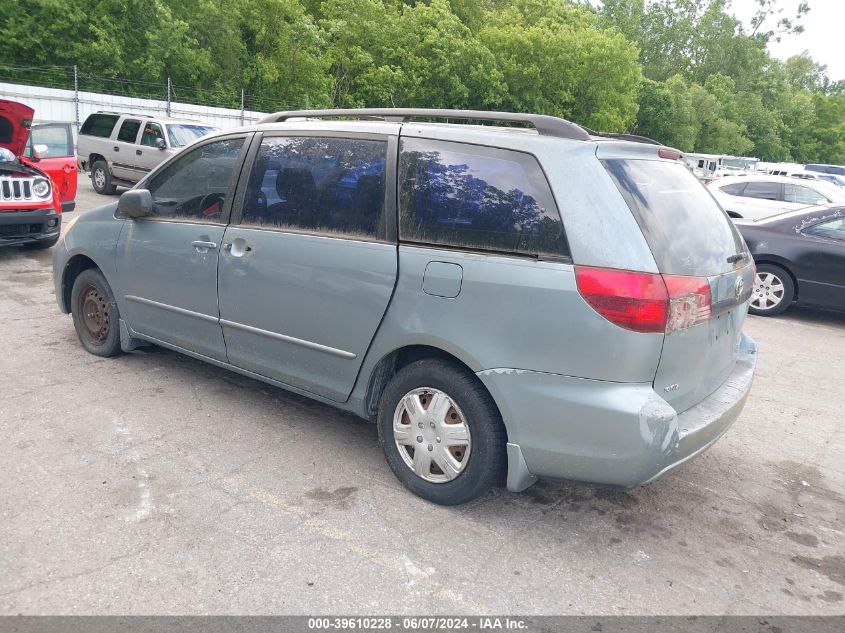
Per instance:
[[[113,194],[216,130],[197,121],[95,112],[79,130],[79,167],[91,172],[97,193]]]

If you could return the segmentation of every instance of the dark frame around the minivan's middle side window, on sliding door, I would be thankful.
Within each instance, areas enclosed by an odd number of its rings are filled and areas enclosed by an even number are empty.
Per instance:
[[[341,237],[327,231],[314,229],[292,229],[274,226],[255,226],[244,224],[242,220],[244,202],[246,201],[247,189],[249,189],[249,177],[258,158],[258,152],[265,138],[335,138],[347,140],[381,141],[386,143],[386,155],[384,165],[384,211],[382,212],[381,226],[377,229],[376,235]],[[241,170],[241,177],[238,182],[238,189],[233,200],[233,209],[229,224],[244,229],[256,231],[273,231],[275,233],[290,233],[292,235],[310,235],[314,237],[325,237],[330,239],[348,239],[356,242],[374,242],[377,244],[396,244],[398,237],[398,192],[396,186],[397,167],[399,156],[399,140],[396,134],[383,134],[375,132],[337,132],[332,130],[272,130],[256,132],[253,142],[249,148]]]

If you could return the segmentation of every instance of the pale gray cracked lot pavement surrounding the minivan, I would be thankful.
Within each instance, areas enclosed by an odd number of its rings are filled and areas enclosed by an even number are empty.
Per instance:
[[[106,199],[80,178],[78,211]],[[169,351],[91,356],[0,251],[0,613],[845,613],[845,315],[750,317],[710,451],[630,492],[411,496],[374,426]]]

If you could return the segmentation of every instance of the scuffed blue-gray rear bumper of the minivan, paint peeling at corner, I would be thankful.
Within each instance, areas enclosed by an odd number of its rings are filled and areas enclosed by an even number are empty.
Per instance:
[[[487,370],[508,430],[508,488],[537,477],[631,488],[706,450],[739,417],[757,344],[742,335],[736,365],[702,402],[679,413],[651,384],[611,383],[523,370]]]

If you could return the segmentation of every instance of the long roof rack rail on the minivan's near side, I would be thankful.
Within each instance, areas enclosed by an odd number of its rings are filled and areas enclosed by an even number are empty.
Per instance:
[[[288,119],[301,118],[339,118],[375,119],[406,123],[411,119],[462,119],[469,121],[507,121],[510,123],[530,123],[543,136],[557,136],[579,141],[590,140],[590,135],[580,125],[566,119],[545,114],[519,114],[515,112],[489,112],[486,110],[446,110],[429,108],[352,108],[348,110],[289,110],[276,112],[260,119],[258,123],[281,123]]]

